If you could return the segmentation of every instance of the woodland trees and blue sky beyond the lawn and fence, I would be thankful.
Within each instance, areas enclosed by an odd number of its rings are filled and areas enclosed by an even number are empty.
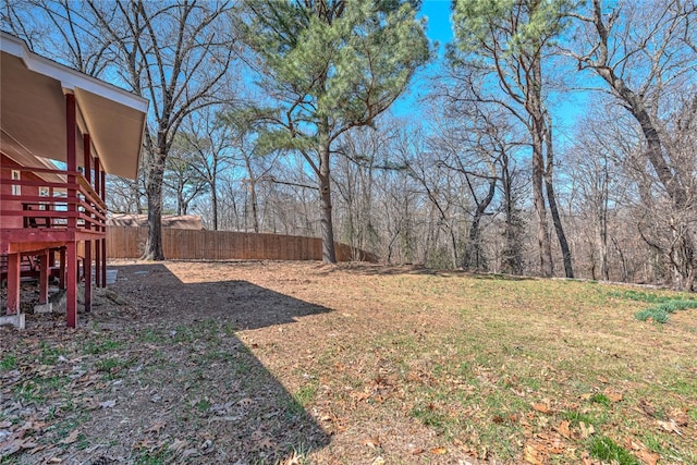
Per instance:
[[[112,212],[390,264],[695,286],[695,0],[4,2],[36,52],[150,99]],[[443,5],[443,8],[447,8]],[[158,243],[159,242],[159,243]]]

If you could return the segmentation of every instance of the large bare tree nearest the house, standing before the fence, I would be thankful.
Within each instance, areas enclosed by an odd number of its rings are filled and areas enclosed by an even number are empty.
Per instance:
[[[148,240],[144,258],[161,260],[162,181],[174,135],[184,119],[229,94],[233,60],[231,1],[155,3],[88,0],[99,35],[113,48],[121,78],[150,99],[145,135]]]

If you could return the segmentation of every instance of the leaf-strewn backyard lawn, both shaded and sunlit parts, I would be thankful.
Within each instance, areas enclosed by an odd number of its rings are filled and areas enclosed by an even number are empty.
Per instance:
[[[690,295],[369,265],[113,268],[81,329],[0,330],[0,464],[697,464],[697,309],[635,316]]]

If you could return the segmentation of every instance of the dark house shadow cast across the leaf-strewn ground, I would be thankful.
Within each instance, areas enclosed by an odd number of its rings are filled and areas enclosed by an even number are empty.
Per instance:
[[[34,449],[5,458],[299,463],[293,460],[329,444],[301,404],[303,392],[289,392],[239,330],[331,309],[246,281],[185,283],[159,264],[113,268],[119,278],[110,292],[120,304],[81,315],[77,332],[61,331],[63,317],[37,315],[34,330],[29,320],[27,332],[3,338],[2,352],[16,347],[16,370],[0,372],[3,390],[15,393],[0,399],[0,420],[42,425],[21,438]],[[36,366],[37,353],[60,356]],[[21,395],[27,387],[30,397]]]

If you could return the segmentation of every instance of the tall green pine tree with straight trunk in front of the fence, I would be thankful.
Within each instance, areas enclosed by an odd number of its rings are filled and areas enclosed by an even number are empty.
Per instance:
[[[335,262],[331,157],[341,134],[370,126],[430,54],[424,24],[402,0],[249,0],[237,26],[270,108],[262,151],[299,152],[317,175],[322,259]]]

